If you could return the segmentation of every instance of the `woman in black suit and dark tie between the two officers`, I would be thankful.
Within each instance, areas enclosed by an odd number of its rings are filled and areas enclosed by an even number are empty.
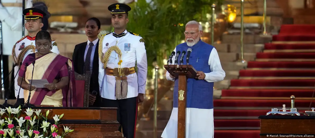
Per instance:
[[[98,83],[98,44],[97,35],[100,33],[100,20],[92,17],[85,23],[85,34],[88,41],[77,44],[74,48],[72,60],[74,71],[78,74],[85,74],[87,71],[91,74],[89,105],[100,107],[100,90]],[[92,94],[93,93],[93,94]],[[95,95],[95,93],[97,93]]]

